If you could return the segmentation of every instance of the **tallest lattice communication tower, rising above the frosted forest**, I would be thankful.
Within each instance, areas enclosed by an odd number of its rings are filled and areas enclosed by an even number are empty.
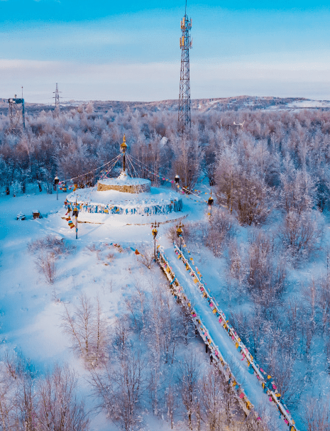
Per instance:
[[[190,30],[192,20],[187,16],[187,2],[185,16],[181,21],[182,36],[180,38],[181,48],[181,70],[180,70],[180,94],[179,94],[179,131],[183,133],[190,129],[190,82],[189,82],[189,49],[192,48],[190,40]]]

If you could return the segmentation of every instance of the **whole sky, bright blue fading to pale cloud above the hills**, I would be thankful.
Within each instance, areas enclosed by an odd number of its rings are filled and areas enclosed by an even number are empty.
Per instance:
[[[177,1],[0,0],[0,97],[178,97]],[[188,1],[191,94],[330,99],[325,2]]]

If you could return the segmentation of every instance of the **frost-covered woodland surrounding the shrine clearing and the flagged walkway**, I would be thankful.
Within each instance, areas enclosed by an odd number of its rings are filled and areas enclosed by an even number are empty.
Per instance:
[[[176,111],[100,113],[89,103],[58,115],[27,113],[23,136],[8,131],[2,114],[3,196],[18,197],[31,185],[53,193],[55,175],[74,178],[116,157],[123,133],[128,153],[142,162],[137,175],[160,185],[148,166],[161,177],[180,175],[188,190],[212,190],[211,214],[185,223],[185,241],[197,261],[208,260],[209,271],[220,274],[217,300],[255,360],[275,376],[299,429],[330,430],[329,111],[194,110],[191,132],[181,138]],[[97,179],[86,175],[79,185]],[[29,250],[75,253],[55,239],[48,243],[31,242]],[[99,258],[105,250],[89,252]],[[104,259],[114,261],[117,252]],[[47,278],[51,265],[40,262]],[[148,286],[136,282],[111,337],[100,336],[106,322],[97,299],[81,295],[76,308],[63,307],[62,330],[89,370],[99,409],[126,431],[143,429],[145,408],[167,420],[164,430],[257,429],[241,419],[223,376],[192,353],[203,346],[188,317],[162,286],[152,286],[151,278]],[[134,348],[140,344],[148,351]],[[180,354],[178,344],[185,346]],[[87,430],[70,369],[57,366],[35,384],[26,359],[7,355],[1,364],[0,430]]]

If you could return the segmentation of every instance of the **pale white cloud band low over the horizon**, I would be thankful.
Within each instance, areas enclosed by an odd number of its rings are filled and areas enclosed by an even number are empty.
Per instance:
[[[0,97],[24,87],[27,102],[50,103],[59,83],[65,99],[176,99],[180,62],[90,64],[84,62],[0,60]],[[190,64],[192,98],[240,94],[330,99],[327,62],[227,61]],[[6,83],[6,84],[4,84]]]

